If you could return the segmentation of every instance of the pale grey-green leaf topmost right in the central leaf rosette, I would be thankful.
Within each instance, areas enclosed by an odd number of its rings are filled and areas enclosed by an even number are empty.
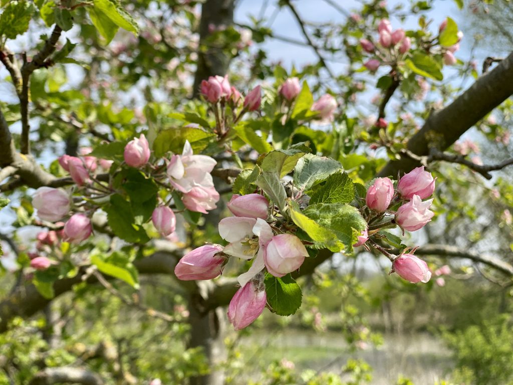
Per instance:
[[[341,168],[340,162],[334,159],[307,154],[295,166],[294,185],[308,190],[315,183],[325,180]]]

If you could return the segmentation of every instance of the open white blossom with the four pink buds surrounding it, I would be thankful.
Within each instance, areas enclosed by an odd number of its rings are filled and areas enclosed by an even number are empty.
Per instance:
[[[212,279],[221,274],[229,256],[253,260],[249,270],[238,277],[241,288],[229,306],[228,319],[239,330],[264,310],[264,269],[275,277],[283,277],[297,270],[308,253],[295,235],[275,234],[266,221],[269,201],[264,196],[235,194],[228,209],[234,217],[221,220],[219,234],[229,243],[225,247],[205,245],[194,249],[179,261],[175,274],[182,280]]]

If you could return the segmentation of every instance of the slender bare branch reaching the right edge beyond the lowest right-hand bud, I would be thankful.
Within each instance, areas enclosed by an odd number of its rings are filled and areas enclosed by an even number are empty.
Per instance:
[[[513,266],[498,258],[464,250],[458,246],[427,244],[419,247],[416,255],[436,255],[440,257],[466,258],[488,265],[508,276],[513,276]]]

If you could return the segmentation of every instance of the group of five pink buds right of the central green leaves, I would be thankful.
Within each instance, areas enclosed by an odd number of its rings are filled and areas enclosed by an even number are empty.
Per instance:
[[[435,191],[435,179],[430,172],[424,171],[424,166],[417,167],[408,174],[404,175],[394,188],[393,182],[389,178],[377,178],[368,188],[365,197],[366,206],[371,210],[369,215],[369,226],[373,226],[373,221],[378,223],[387,215],[394,215],[395,222],[404,230],[410,232],[416,231],[426,225],[435,215],[429,208],[433,202],[428,199]],[[391,211],[389,207],[397,202],[403,202],[397,211]],[[406,203],[404,203],[407,201]],[[375,230],[373,230],[375,232]],[[358,242],[353,246],[362,246],[368,240],[368,231],[362,232],[358,237]],[[427,282],[431,273],[427,264],[410,254],[401,254],[399,257],[392,258],[392,271],[410,282]]]

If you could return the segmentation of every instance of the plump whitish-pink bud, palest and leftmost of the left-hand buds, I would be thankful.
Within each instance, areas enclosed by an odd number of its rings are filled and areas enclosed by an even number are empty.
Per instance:
[[[40,219],[55,222],[68,214],[70,198],[66,191],[40,187],[35,190],[32,206],[37,210]]]

